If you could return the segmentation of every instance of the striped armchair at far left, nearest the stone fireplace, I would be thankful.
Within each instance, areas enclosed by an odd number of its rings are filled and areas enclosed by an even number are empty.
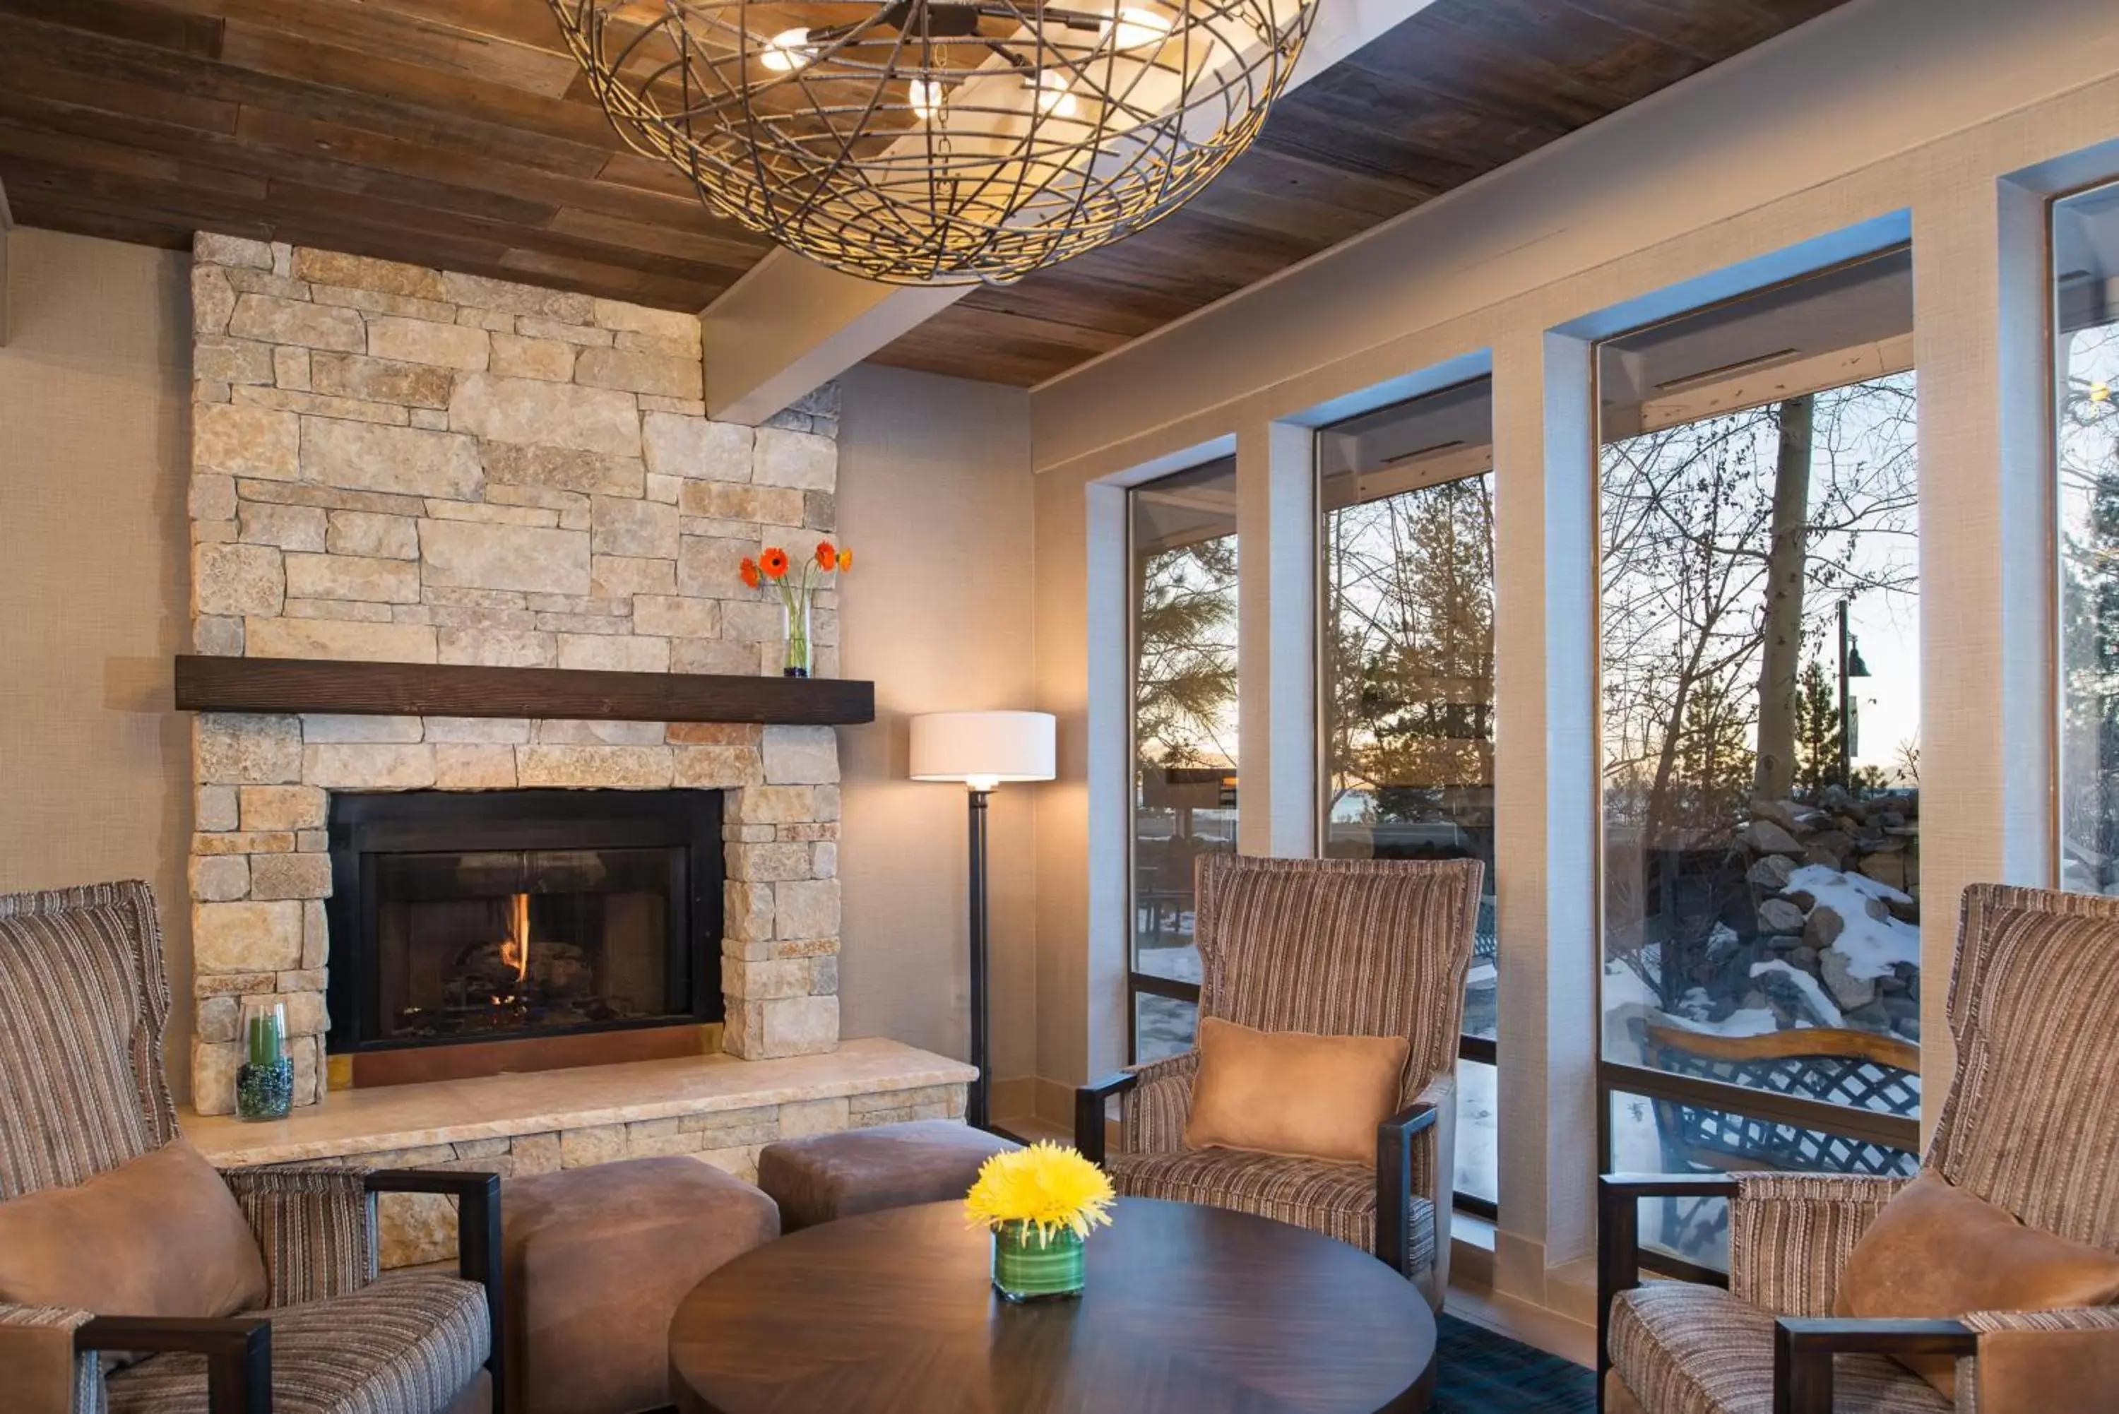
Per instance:
[[[0,1208],[180,1141],[167,1018],[146,884],[0,895]],[[256,1234],[265,1306],[144,1319],[0,1302],[0,1408],[483,1414],[496,1401],[498,1177],[292,1166],[222,1179]],[[377,1278],[381,1189],[460,1200],[460,1276]]]

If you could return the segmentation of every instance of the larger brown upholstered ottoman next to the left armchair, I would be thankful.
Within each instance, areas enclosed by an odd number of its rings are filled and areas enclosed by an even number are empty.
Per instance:
[[[720,1263],[780,1236],[773,1200],[689,1157],[511,1179],[506,1414],[670,1403],[670,1319]]]

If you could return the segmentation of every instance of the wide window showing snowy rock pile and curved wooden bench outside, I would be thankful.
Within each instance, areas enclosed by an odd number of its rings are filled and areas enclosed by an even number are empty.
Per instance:
[[[1610,1168],[1920,1147],[1911,305],[1897,250],[1598,352]]]

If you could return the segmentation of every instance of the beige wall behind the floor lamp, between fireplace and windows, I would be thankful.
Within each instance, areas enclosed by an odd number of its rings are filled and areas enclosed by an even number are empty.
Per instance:
[[[905,778],[915,712],[1028,708],[1030,399],[996,384],[860,365],[841,379],[839,534],[845,676],[875,723],[839,733],[848,1037],[966,1054],[964,793]],[[1034,797],[992,803],[994,1075],[1036,1071]]]

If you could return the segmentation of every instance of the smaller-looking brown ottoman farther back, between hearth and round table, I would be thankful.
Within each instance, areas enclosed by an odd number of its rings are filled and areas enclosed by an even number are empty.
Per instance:
[[[780,1227],[962,1198],[979,1164],[1019,1145],[949,1119],[782,1138],[759,1153],[759,1187],[780,1204]]]

